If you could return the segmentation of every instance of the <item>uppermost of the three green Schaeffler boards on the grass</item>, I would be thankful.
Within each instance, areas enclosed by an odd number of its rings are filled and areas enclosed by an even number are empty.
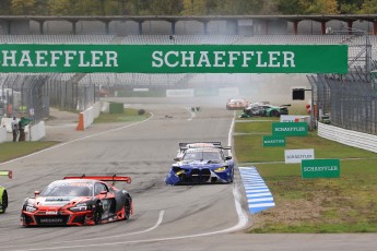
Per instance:
[[[274,136],[306,136],[308,124],[306,122],[273,122],[272,135]]]

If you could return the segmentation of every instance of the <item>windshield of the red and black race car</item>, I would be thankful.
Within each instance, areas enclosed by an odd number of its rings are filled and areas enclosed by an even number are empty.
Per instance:
[[[40,196],[92,196],[93,192],[87,183],[50,184]]]

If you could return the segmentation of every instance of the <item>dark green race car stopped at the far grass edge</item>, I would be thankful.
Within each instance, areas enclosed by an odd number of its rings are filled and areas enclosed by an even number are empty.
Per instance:
[[[288,106],[273,106],[269,103],[252,103],[246,109],[244,109],[244,115],[241,117],[252,117],[252,116],[266,116],[266,117],[280,117],[281,115],[288,115]]]

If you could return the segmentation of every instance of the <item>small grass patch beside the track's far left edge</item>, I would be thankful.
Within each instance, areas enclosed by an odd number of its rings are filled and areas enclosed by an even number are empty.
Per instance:
[[[109,122],[134,122],[141,121],[150,117],[149,112],[139,115],[138,109],[125,108],[123,113],[101,113],[94,120],[94,123],[109,123]]]

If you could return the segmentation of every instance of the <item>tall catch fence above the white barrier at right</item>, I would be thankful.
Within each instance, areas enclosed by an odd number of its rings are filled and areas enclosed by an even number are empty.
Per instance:
[[[332,125],[377,134],[377,61],[372,60],[372,46],[364,33],[346,34],[344,43],[358,49],[349,59],[347,74],[308,75],[311,84],[314,117]],[[360,43],[360,44],[357,44]],[[353,46],[353,47],[352,47]]]

